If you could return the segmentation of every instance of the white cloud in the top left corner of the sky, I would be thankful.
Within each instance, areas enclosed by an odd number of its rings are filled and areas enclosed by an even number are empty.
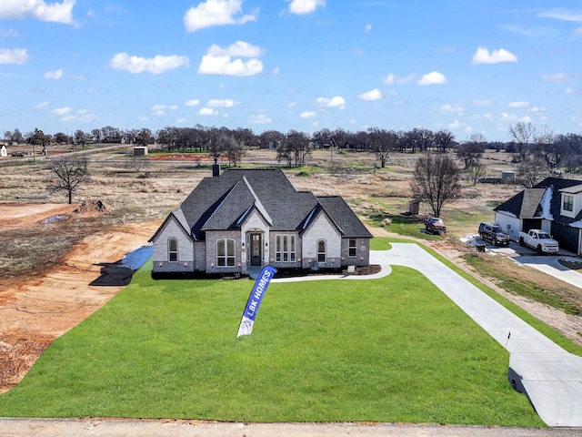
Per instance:
[[[44,0],[2,0],[0,2],[0,19],[24,20],[35,18],[40,21],[75,24],[73,6],[76,0],[46,4]]]

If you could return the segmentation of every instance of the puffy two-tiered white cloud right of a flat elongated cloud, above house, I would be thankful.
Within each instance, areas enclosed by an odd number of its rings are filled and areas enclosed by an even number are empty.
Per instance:
[[[206,55],[198,67],[198,73],[202,75],[225,76],[255,76],[263,71],[263,63],[256,58],[260,56],[261,48],[252,46],[244,41],[236,41],[235,44],[222,48],[210,46]],[[233,59],[234,56],[239,56]],[[243,61],[241,57],[250,57]]]

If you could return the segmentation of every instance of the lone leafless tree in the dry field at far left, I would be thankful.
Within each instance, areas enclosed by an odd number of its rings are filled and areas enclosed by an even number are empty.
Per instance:
[[[73,193],[80,185],[90,180],[87,171],[87,158],[63,158],[56,160],[51,173],[46,177],[49,193],[65,191],[69,205],[73,203]]]

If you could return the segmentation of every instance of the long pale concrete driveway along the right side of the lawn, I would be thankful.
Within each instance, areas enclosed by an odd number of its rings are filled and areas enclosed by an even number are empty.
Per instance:
[[[510,353],[509,367],[549,426],[582,427],[582,358],[568,353],[416,244],[373,252],[391,265],[423,273]],[[376,260],[374,260],[376,263]],[[509,336],[510,333],[510,336]]]

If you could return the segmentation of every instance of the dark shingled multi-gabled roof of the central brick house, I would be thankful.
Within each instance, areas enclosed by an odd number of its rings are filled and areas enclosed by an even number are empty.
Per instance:
[[[297,191],[279,168],[226,169],[219,177],[204,178],[173,215],[193,238],[205,239],[207,230],[240,228],[253,210],[271,230],[301,231],[321,209],[343,236],[372,237],[343,198]]]

